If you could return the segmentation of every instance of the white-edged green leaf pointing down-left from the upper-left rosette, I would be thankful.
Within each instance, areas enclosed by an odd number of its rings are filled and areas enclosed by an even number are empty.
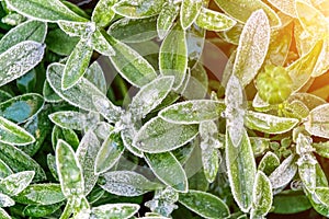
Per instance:
[[[61,89],[68,90],[83,77],[92,56],[89,39],[81,39],[69,56],[61,78]]]

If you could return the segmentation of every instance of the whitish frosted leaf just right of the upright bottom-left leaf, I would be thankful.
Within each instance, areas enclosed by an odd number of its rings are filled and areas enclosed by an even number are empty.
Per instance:
[[[97,154],[101,148],[101,143],[92,130],[84,134],[77,149],[77,158],[82,168],[84,178],[84,195],[88,195],[98,181],[94,174],[94,163]]]

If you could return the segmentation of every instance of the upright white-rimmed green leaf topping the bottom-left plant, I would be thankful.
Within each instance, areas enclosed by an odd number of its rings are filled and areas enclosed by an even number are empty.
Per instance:
[[[78,197],[84,193],[82,168],[75,151],[64,140],[59,139],[56,146],[56,166],[61,192],[65,197]]]

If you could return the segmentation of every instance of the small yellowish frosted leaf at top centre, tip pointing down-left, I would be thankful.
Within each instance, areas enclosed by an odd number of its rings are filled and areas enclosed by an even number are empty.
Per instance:
[[[179,14],[179,7],[172,3],[164,3],[157,19],[157,31],[159,38],[162,39],[168,34],[173,25],[173,22]]]

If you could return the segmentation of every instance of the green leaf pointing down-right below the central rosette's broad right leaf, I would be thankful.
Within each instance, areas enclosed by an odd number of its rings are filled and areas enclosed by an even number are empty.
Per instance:
[[[162,183],[180,193],[188,191],[186,174],[171,152],[145,153],[145,161]]]

